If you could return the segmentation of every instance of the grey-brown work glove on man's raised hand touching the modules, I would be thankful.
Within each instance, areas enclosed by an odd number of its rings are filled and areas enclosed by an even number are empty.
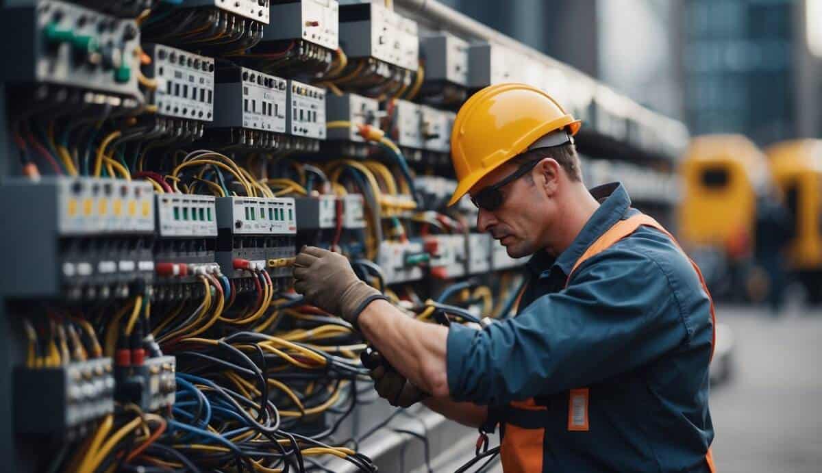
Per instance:
[[[366,305],[376,299],[388,300],[379,291],[361,281],[349,259],[316,246],[304,246],[294,260],[294,290],[308,304],[339,315],[354,328]]]

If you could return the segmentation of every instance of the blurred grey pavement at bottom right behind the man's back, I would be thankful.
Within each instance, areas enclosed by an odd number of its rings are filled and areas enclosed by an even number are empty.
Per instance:
[[[822,310],[719,306],[734,333],[735,374],[713,388],[722,473],[822,471]]]

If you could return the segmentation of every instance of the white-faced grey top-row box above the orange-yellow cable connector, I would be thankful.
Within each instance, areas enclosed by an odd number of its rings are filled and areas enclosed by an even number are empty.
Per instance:
[[[381,2],[341,6],[339,42],[349,57],[373,57],[411,71],[418,69],[417,23]]]

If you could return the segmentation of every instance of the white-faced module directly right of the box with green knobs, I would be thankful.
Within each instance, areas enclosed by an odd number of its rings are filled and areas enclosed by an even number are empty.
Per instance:
[[[163,44],[146,44],[150,64],[145,76],[156,80],[150,103],[164,117],[202,122],[214,120],[215,62],[212,57],[188,53]]]

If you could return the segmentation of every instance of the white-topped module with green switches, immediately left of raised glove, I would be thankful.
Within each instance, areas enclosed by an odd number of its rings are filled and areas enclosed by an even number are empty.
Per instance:
[[[296,256],[297,215],[290,197],[220,197],[217,262],[230,278],[266,270],[285,283]]]

